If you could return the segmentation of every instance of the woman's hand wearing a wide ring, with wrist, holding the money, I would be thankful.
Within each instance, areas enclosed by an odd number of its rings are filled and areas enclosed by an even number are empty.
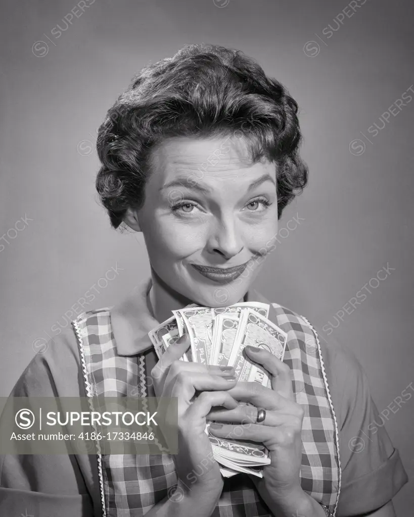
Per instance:
[[[210,432],[218,437],[253,440],[270,451],[271,463],[263,468],[263,478],[252,476],[268,506],[280,514],[288,512],[292,501],[293,514],[298,497],[305,501],[300,485],[302,460],[302,420],[304,411],[294,400],[290,369],[270,352],[245,347],[248,357],[261,364],[272,377],[272,389],[256,382],[238,382],[228,393],[236,400],[252,405],[211,411],[207,418],[217,421],[242,422],[238,425],[212,424]],[[256,406],[256,407],[255,407]],[[266,410],[263,422],[257,423],[258,408]]]

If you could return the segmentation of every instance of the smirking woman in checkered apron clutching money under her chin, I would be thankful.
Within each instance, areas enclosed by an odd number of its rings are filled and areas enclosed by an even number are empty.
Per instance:
[[[407,476],[383,428],[361,450],[376,408],[358,361],[250,288],[283,209],[307,183],[297,111],[254,60],[213,45],[145,67],[109,110],[96,187],[115,229],[143,233],[151,278],[118,306],[80,314],[12,395],[129,396],[138,387],[143,397],[177,397],[179,453],[6,455],[2,515],[22,505],[60,517],[394,515]],[[272,389],[180,361],[186,336],[155,356],[147,334],[172,310],[243,300],[269,303],[269,319],[288,333],[283,362],[247,350]],[[270,450],[263,478],[221,476],[209,419],[216,436]]]

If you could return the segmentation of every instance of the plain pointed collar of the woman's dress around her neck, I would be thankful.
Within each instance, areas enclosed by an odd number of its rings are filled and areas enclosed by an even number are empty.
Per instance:
[[[148,332],[159,325],[151,314],[147,294],[152,287],[152,278],[139,283],[120,303],[111,309],[111,323],[116,351],[120,356],[132,356],[149,350],[153,344]],[[246,301],[260,301],[269,304],[269,320],[276,323],[276,312],[272,304],[256,290],[247,292]]]

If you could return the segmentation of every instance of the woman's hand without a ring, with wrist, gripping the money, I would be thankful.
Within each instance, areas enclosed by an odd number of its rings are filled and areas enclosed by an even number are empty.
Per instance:
[[[233,409],[238,402],[228,391],[236,384],[234,369],[180,361],[189,345],[184,334],[168,347],[151,376],[157,397],[178,398],[179,453],[174,455],[178,486],[186,497],[198,500],[197,514],[201,516],[211,514],[223,490],[219,465],[205,433],[205,417],[213,406]]]

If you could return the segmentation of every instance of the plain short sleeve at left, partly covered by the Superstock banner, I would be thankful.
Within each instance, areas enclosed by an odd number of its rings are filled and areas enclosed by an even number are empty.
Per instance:
[[[32,359],[9,397],[85,396],[73,338],[68,331],[66,338],[49,341],[45,353]],[[91,484],[91,458],[75,454],[0,455],[0,515],[91,517],[95,514],[87,486]]]

